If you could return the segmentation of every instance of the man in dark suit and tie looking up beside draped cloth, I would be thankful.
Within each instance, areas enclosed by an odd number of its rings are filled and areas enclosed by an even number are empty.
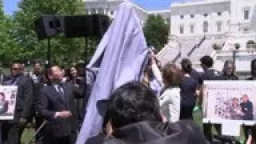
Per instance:
[[[46,118],[43,130],[45,144],[73,144],[76,138],[74,95],[82,95],[83,90],[68,82],[62,83],[62,71],[52,66],[48,71],[51,85],[44,86],[37,100],[38,113]]]

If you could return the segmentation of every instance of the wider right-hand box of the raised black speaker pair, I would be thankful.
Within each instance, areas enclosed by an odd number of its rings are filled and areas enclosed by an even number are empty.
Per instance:
[[[67,38],[102,36],[110,25],[106,15],[78,15],[65,17]]]

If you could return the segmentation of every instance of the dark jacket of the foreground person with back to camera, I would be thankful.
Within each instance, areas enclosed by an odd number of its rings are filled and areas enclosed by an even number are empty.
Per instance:
[[[135,122],[122,126],[111,136],[99,134],[85,144],[206,144],[202,131],[190,121],[175,123]]]

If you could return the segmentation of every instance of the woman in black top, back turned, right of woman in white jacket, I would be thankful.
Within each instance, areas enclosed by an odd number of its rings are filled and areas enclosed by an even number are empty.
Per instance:
[[[181,119],[193,120],[193,109],[196,104],[198,82],[191,77],[192,63],[189,59],[182,60],[183,78],[181,83]]]

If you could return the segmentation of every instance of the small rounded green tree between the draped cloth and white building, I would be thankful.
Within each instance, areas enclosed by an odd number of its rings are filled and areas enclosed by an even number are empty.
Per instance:
[[[166,23],[162,16],[149,15],[144,26],[144,34],[148,45],[161,50],[168,41],[169,28],[169,22]]]

